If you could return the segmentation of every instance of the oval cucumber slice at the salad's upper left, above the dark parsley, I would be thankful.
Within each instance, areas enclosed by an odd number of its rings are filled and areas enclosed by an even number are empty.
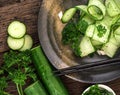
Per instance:
[[[76,13],[76,11],[77,11],[76,8],[70,8],[70,9],[66,10],[61,18],[62,22],[67,23],[73,17],[73,15]]]

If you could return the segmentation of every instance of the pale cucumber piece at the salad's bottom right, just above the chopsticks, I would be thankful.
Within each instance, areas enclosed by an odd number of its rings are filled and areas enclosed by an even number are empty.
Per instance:
[[[119,47],[114,45],[112,42],[107,42],[103,47],[102,50],[105,52],[105,54],[109,57],[113,57]]]

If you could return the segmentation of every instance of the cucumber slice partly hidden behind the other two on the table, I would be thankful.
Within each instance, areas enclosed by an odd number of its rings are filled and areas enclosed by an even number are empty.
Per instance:
[[[32,48],[33,39],[31,38],[31,36],[27,34],[27,35],[24,36],[24,39],[25,39],[24,45],[22,46],[22,48],[20,49],[20,51],[24,51],[24,50]]]

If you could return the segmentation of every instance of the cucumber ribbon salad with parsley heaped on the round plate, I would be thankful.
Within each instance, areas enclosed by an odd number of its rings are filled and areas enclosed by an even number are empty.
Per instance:
[[[87,5],[67,9],[62,43],[70,45],[75,55],[93,53],[112,58],[120,47],[120,0],[89,0]]]

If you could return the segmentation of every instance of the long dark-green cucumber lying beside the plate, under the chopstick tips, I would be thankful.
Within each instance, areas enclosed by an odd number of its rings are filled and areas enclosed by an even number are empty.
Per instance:
[[[53,75],[52,69],[40,46],[33,48],[32,60],[50,95],[69,95],[60,79]]]

